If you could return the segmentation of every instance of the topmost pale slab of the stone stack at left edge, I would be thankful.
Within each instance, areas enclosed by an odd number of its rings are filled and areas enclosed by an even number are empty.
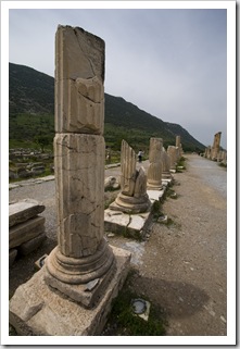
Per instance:
[[[25,222],[45,211],[45,205],[33,199],[25,199],[9,205],[9,226]]]

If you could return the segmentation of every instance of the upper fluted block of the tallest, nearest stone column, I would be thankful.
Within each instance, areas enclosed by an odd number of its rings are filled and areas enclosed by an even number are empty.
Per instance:
[[[104,41],[81,28],[59,26],[55,43],[56,133],[102,135]]]

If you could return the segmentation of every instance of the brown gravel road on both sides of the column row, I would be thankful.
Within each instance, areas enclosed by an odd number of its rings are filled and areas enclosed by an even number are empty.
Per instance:
[[[118,173],[119,167],[112,169],[105,176]],[[149,239],[141,242],[119,236],[108,239],[132,252],[135,287],[163,308],[168,336],[226,336],[227,172],[191,154],[187,170],[174,177],[177,199],[167,198],[162,207],[172,224],[152,223]],[[18,187],[9,195],[10,201],[33,198],[46,205],[48,236],[39,250],[11,267],[12,296],[35,272],[34,262],[56,244],[54,180]]]

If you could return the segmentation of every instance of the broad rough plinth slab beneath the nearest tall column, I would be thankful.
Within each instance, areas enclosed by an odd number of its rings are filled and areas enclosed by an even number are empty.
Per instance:
[[[116,273],[98,306],[91,310],[70,300],[45,283],[45,265],[10,300],[10,323],[18,335],[93,336],[100,335],[112,301],[126,279],[130,253],[111,247],[116,258]]]

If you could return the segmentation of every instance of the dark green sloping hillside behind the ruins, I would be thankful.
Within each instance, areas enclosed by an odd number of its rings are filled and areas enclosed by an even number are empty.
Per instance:
[[[9,64],[10,148],[34,147],[39,138],[52,147],[54,137],[54,78],[28,66]],[[106,146],[119,150],[124,138],[135,149],[148,152],[151,137],[163,138],[164,147],[181,137],[185,151],[205,146],[178,124],[164,122],[121,97],[105,94],[104,137]]]

